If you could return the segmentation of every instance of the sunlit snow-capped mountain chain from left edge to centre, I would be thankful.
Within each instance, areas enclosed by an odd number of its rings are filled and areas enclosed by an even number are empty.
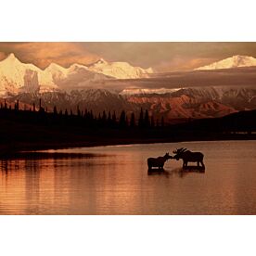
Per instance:
[[[110,79],[147,77],[151,69],[133,67],[125,62],[107,62],[100,59],[90,66],[72,64],[69,68],[51,63],[45,70],[19,61],[14,54],[0,61],[0,96],[19,93],[72,90]]]

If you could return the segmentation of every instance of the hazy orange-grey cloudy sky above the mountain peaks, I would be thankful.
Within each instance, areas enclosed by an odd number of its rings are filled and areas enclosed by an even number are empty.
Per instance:
[[[99,58],[165,72],[192,70],[234,55],[256,58],[256,43],[42,42],[0,43],[0,60],[14,53],[22,62],[45,69],[55,62],[64,67],[87,65]]]

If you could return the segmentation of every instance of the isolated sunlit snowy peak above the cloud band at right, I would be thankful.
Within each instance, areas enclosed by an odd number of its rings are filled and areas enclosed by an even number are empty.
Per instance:
[[[196,70],[219,70],[252,66],[256,66],[256,58],[236,55],[231,58],[224,58],[223,60],[213,62],[210,65],[199,67]]]

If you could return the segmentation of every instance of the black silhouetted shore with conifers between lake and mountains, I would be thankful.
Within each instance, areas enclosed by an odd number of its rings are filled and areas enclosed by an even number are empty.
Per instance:
[[[173,123],[155,120],[147,109],[139,117],[124,110],[57,109],[49,112],[41,100],[31,108],[6,103],[0,107],[0,150],[9,154],[17,150],[62,147],[91,147],[134,143],[157,143],[192,140],[255,139],[256,110],[240,111],[222,118],[187,120]]]

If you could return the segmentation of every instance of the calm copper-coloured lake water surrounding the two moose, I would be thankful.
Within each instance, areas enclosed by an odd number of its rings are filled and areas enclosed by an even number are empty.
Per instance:
[[[1,214],[256,214],[256,142],[189,142],[48,150],[0,160]],[[147,158],[200,150],[205,173]],[[78,153],[78,154],[77,154]]]

